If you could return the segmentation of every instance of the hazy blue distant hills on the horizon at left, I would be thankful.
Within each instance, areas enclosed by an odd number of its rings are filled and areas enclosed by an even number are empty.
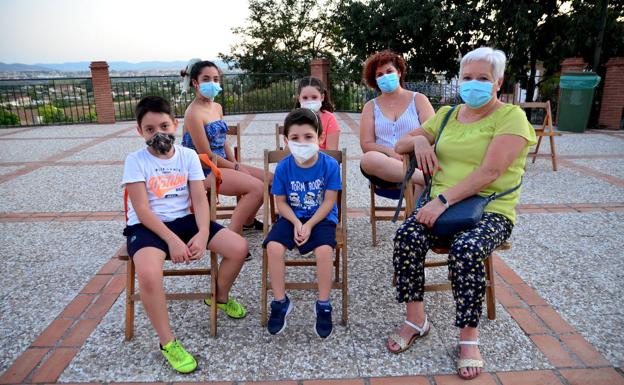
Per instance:
[[[222,69],[227,68],[221,60],[214,60],[215,64]],[[125,61],[108,62],[110,71],[148,71],[148,70],[181,70],[186,66],[187,61],[143,61],[130,63]],[[20,71],[60,71],[60,72],[80,72],[89,71],[90,62],[71,63],[37,63],[34,65],[14,63],[5,64],[0,62],[0,72],[20,72]]]

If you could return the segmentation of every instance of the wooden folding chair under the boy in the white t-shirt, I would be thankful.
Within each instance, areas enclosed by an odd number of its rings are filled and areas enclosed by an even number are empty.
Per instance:
[[[216,160],[216,159],[215,159]],[[216,191],[217,181],[214,173],[210,177],[210,219],[216,217]],[[128,199],[126,197],[126,199]],[[117,251],[117,258],[126,261],[126,341],[134,336],[134,305],[141,301],[141,295],[135,291],[135,267],[132,258],[128,256],[126,243]],[[167,258],[169,259],[169,258]],[[189,276],[189,275],[209,275],[210,276],[210,292],[194,292],[194,293],[166,293],[167,300],[203,300],[210,296],[211,303],[217,303],[217,272],[219,265],[217,263],[217,253],[210,251],[210,267],[194,268],[194,269],[164,269],[163,276]],[[217,336],[217,306],[210,306],[210,336]]]

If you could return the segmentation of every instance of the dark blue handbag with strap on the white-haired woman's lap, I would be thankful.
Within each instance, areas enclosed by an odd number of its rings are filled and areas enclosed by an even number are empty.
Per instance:
[[[436,137],[435,143],[433,145],[434,152],[437,147],[438,140],[440,139],[440,136],[442,135],[442,131],[444,131],[444,127],[446,126],[446,123],[448,123],[449,117],[451,116],[451,113],[456,107],[457,106],[451,107],[451,109],[446,113],[444,120],[442,121],[442,125],[440,126],[440,131],[438,132],[438,136]],[[412,158],[410,160],[410,164],[407,169],[407,172],[405,173],[405,178],[403,179],[403,182],[401,183],[401,194],[399,197],[399,205],[397,206],[397,210],[394,213],[393,221],[396,221],[396,219],[399,216],[399,212],[403,203],[403,192],[404,192],[405,186],[407,185],[407,183],[411,183],[411,178],[412,178],[412,175],[414,174],[414,171],[416,170],[416,166],[417,166],[416,159]],[[431,193],[432,180],[427,175],[425,175],[425,183],[426,183],[426,187],[423,190],[423,192],[420,194],[420,196],[418,197],[418,201],[416,202],[416,206],[415,206],[416,209],[420,208],[425,203],[427,197],[429,197]],[[430,230],[431,233],[442,238],[448,238],[454,234],[459,233],[460,231],[465,231],[465,230],[469,230],[469,229],[476,227],[477,223],[479,223],[479,221],[483,217],[483,211],[485,210],[485,207],[488,205],[488,203],[490,203],[491,201],[495,199],[501,198],[507,194],[511,194],[512,192],[519,189],[521,185],[522,185],[522,179],[520,179],[520,183],[517,186],[507,191],[503,191],[500,194],[495,193],[495,194],[491,194],[485,197],[475,194],[471,197],[465,198],[449,206],[435,221],[435,223],[433,224],[433,227]],[[410,215],[411,214],[412,213],[410,213]]]

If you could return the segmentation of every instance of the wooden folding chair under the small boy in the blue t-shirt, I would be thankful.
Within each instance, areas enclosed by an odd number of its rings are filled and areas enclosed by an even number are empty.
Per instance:
[[[336,226],[336,254],[334,257],[334,282],[332,289],[342,291],[342,325],[346,326],[348,321],[349,291],[347,276],[347,150],[323,150],[323,152],[338,161],[341,166],[342,174],[342,190],[338,192],[338,226]],[[269,171],[271,163],[277,163],[285,158],[289,152],[287,151],[269,151],[264,150],[264,171]],[[269,208],[272,207],[270,201],[274,201],[275,197],[269,189],[269,182],[264,181],[264,238],[269,232],[269,223],[272,219]],[[274,204],[274,203],[273,203]],[[288,266],[316,266],[316,258],[305,259],[285,259],[285,265]],[[340,271],[342,270],[342,272]],[[262,252],[262,288],[260,290],[260,306],[261,306],[261,322],[262,326],[267,324],[267,297],[270,290],[271,282],[268,279],[268,255],[266,249]],[[317,290],[316,282],[286,282],[286,290]]]

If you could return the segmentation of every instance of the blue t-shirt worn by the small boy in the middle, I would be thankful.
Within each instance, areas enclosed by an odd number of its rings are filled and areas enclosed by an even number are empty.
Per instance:
[[[309,219],[323,203],[326,190],[341,189],[338,162],[331,156],[319,152],[318,160],[310,168],[299,167],[292,155],[282,159],[275,168],[271,193],[285,195],[297,218]],[[336,204],[327,215],[327,219],[338,223]]]

